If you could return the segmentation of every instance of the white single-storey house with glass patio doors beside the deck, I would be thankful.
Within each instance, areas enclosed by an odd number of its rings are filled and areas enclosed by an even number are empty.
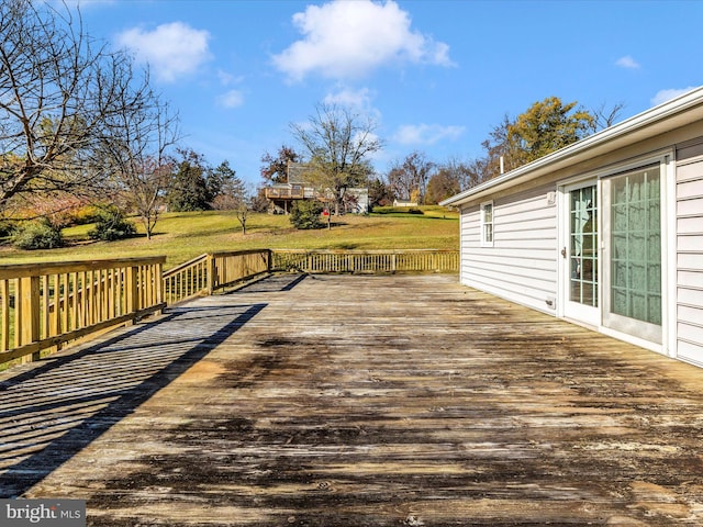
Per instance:
[[[703,88],[440,204],[464,284],[703,366]]]

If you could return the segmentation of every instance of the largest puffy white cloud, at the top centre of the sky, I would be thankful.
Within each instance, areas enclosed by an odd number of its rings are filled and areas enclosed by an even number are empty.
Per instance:
[[[274,64],[291,80],[319,72],[332,79],[361,78],[389,63],[451,66],[449,46],[411,31],[408,12],[389,0],[334,0],[293,15],[303,37]]]

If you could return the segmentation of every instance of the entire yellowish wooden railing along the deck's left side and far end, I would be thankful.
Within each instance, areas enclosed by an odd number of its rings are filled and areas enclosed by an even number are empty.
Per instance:
[[[0,266],[0,363],[276,271],[457,272],[456,250],[254,249],[202,255],[163,272],[165,257]]]

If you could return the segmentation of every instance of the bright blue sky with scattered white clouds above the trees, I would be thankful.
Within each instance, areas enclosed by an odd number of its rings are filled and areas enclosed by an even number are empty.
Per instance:
[[[507,114],[559,97],[620,121],[703,85],[703,1],[77,0],[149,64],[183,145],[260,182],[320,102],[370,115],[384,173],[413,150],[481,156]]]

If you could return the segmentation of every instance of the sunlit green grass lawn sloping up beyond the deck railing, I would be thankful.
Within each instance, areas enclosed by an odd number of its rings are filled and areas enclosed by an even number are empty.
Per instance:
[[[446,209],[383,209],[366,216],[333,216],[332,229],[297,231],[288,216],[252,214],[247,234],[234,213],[194,212],[164,214],[155,234],[119,242],[91,242],[92,225],[66,228],[67,247],[52,250],[19,250],[0,246],[0,264],[66,261],[122,257],[166,256],[166,268],[203,253],[252,248],[286,249],[457,249],[459,222],[456,212]],[[422,210],[422,214],[416,210]]]

